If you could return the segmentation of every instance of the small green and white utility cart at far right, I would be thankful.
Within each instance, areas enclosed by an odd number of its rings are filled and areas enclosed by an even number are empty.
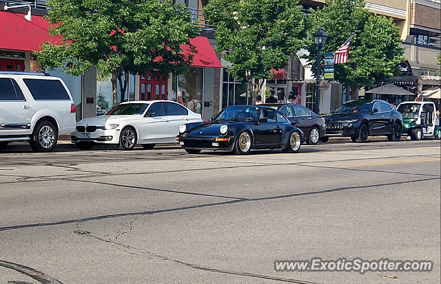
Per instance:
[[[424,137],[435,136],[441,138],[440,123],[436,117],[435,103],[433,102],[402,102],[397,110],[402,114],[404,135],[411,140],[422,140]]]

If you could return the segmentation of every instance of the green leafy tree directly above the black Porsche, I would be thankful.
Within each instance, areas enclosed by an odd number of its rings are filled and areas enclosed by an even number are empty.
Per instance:
[[[306,16],[298,0],[212,0],[205,16],[216,27],[216,52],[232,63],[229,74],[247,82],[254,98],[262,85],[302,46]]]

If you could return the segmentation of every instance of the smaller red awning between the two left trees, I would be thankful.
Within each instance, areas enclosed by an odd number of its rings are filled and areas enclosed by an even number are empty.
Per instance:
[[[222,68],[218,56],[214,53],[212,45],[209,44],[205,36],[190,39],[190,43],[196,47],[198,52],[193,56],[192,66]],[[188,47],[184,47],[183,50],[185,54],[189,53]]]

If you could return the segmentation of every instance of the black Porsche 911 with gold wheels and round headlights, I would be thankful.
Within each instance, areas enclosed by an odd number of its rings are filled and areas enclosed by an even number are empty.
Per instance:
[[[305,136],[276,109],[236,105],[223,109],[212,121],[181,125],[176,139],[191,154],[222,150],[244,155],[252,149],[295,153]]]

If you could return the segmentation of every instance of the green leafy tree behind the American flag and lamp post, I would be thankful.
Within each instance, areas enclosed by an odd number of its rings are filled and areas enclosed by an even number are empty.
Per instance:
[[[312,34],[320,25],[329,35],[323,52],[335,52],[353,32],[356,35],[349,47],[349,60],[334,66],[335,77],[351,91],[362,86],[386,81],[398,74],[404,61],[404,50],[399,47],[399,28],[393,19],[371,14],[363,0],[327,0],[326,6],[311,10],[311,28],[307,39],[307,56],[316,69],[318,49]]]

